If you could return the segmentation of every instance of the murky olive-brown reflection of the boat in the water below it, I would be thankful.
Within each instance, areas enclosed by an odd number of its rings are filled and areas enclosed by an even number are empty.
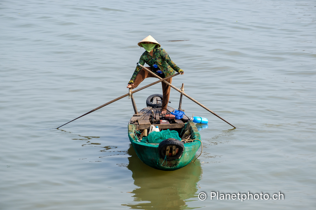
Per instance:
[[[197,197],[197,182],[202,175],[199,160],[175,171],[161,171],[145,165],[132,146],[127,168],[132,171],[135,204],[122,204],[132,209],[194,209],[186,202]]]

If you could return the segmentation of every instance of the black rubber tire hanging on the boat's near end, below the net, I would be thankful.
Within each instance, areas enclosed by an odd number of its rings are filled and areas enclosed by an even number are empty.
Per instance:
[[[175,156],[166,156],[166,148],[167,146],[173,146],[175,145],[178,148],[178,153]],[[173,138],[169,138],[166,140],[163,140],[162,142],[160,142],[160,144],[158,145],[158,152],[161,158],[163,159],[167,159],[167,160],[176,160],[179,159],[184,151],[184,145],[181,141],[177,140],[177,139],[173,139]]]

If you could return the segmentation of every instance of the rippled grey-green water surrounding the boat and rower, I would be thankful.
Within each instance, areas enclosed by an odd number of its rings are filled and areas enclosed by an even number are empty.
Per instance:
[[[0,209],[313,209],[314,1],[1,1]],[[173,85],[209,119],[203,154],[173,172],[127,137],[127,93],[152,35],[185,71]],[[169,42],[174,40],[187,40]],[[146,79],[141,85],[156,81]],[[134,95],[138,109],[161,93]],[[171,90],[173,107],[179,93]],[[200,151],[200,150],[199,150]],[[211,192],[284,200],[210,200]],[[207,193],[200,201],[197,195]]]

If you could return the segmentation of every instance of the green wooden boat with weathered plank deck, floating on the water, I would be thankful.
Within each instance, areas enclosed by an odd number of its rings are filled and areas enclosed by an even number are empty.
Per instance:
[[[174,109],[168,106],[167,114],[172,111]],[[128,124],[128,137],[143,163],[155,169],[173,171],[185,167],[194,159],[201,146],[201,136],[195,124],[187,116],[180,120],[169,119],[170,124],[159,124],[164,117],[165,115],[161,114],[161,108],[147,106],[131,118]],[[151,125],[158,126],[160,130],[175,130],[179,133],[179,137],[182,137],[181,139],[189,133],[191,136],[186,136],[186,138],[191,140],[167,139],[160,144],[141,142],[140,133],[146,134],[146,130],[148,131]]]

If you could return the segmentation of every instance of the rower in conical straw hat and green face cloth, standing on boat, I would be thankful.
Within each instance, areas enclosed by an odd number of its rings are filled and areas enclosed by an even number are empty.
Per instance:
[[[151,71],[161,78],[169,77],[175,74],[174,71],[179,72],[181,75],[184,74],[183,70],[180,69],[170,59],[167,52],[161,48],[161,45],[152,37],[148,36],[138,43],[138,46],[143,47],[146,51],[140,56],[138,61],[139,64],[148,64]],[[127,88],[136,88],[145,78],[153,77],[148,71],[141,69],[140,66],[136,66],[136,69],[131,77],[131,81],[128,82]],[[172,78],[166,80],[171,83]],[[170,86],[166,83],[161,82],[162,85],[162,105],[161,113],[167,113],[167,105],[170,96]]]

